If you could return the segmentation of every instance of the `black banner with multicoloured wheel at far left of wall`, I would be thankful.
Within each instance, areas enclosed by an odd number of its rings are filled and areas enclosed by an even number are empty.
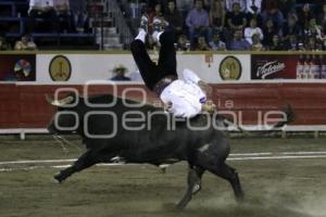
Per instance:
[[[36,81],[36,55],[1,54],[0,81]]]

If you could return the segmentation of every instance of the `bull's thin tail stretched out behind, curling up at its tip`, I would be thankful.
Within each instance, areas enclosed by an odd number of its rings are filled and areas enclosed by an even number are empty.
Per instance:
[[[279,128],[284,127],[285,125],[289,124],[289,123],[292,123],[296,118],[296,114],[293,112],[293,110],[291,108],[291,106],[289,104],[287,104],[286,108],[283,110],[284,114],[286,115],[286,119],[285,120],[281,120],[281,122],[278,122],[276,123],[275,125],[272,126],[271,129],[268,130],[264,130],[264,131],[260,131],[260,132],[255,132],[254,135],[264,135],[264,133],[268,133],[268,132],[273,132],[275,130],[278,130]],[[220,117],[221,118],[221,117]],[[246,130],[243,127],[235,124],[231,119],[223,116],[223,123],[226,127],[229,127],[229,126],[233,126],[233,127],[236,127],[240,132],[243,132],[244,135],[247,136],[250,136],[251,133]]]

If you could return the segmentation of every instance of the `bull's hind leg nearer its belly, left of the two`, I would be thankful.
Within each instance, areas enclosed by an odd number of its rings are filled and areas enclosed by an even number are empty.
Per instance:
[[[183,200],[177,204],[177,209],[184,209],[187,204],[190,202],[192,195],[198,193],[201,189],[201,177],[204,173],[204,169],[199,167],[193,167],[189,169],[188,173],[188,189],[186,191]]]

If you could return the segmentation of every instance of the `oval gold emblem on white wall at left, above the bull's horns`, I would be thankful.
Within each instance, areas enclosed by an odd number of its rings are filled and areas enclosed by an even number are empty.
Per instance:
[[[49,66],[53,81],[67,81],[72,75],[72,64],[64,55],[55,55]]]

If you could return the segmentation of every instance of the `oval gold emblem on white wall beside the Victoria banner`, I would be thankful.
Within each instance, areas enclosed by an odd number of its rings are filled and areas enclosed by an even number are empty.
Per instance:
[[[237,58],[229,55],[221,62],[220,75],[223,80],[238,80],[241,73],[242,66]]]

